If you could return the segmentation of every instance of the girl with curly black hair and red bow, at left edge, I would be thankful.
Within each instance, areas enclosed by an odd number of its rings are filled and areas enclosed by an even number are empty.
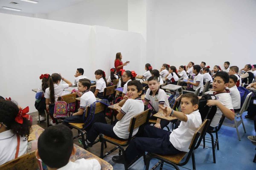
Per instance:
[[[21,109],[0,99],[0,165],[26,153],[31,127],[28,112],[29,107]]]

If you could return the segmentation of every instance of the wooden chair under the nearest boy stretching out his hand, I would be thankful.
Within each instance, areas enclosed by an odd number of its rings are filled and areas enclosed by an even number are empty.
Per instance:
[[[161,161],[160,165],[160,170],[163,169],[163,162],[166,162],[167,164],[171,164],[173,167],[175,167],[176,170],[179,170],[178,166],[183,166],[188,163],[190,157],[192,156],[192,165],[193,165],[193,170],[195,170],[195,154],[194,154],[194,148],[197,142],[201,142],[200,140],[198,141],[200,136],[204,136],[207,128],[209,125],[209,120],[206,119],[202,125],[198,128],[198,130],[195,131],[195,134],[192,138],[192,141],[189,146],[189,152],[181,152],[178,153],[177,155],[159,155],[156,153],[147,153],[146,158],[145,158],[145,164],[146,164],[146,170],[149,168],[149,163],[152,158],[159,159]],[[202,138],[200,138],[202,139]],[[187,155],[187,156],[186,156]],[[186,156],[185,161],[180,162],[184,157]]]

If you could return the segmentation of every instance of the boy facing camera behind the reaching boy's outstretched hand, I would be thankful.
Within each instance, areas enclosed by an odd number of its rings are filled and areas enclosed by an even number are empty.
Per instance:
[[[157,70],[158,71],[158,70]],[[170,107],[168,102],[168,97],[163,89],[159,88],[159,81],[158,77],[152,76],[148,79],[148,90],[145,94],[145,102],[144,105],[147,106],[150,102],[150,105],[154,109],[151,111],[152,116],[150,119],[156,119],[156,117],[153,116],[153,114],[157,113],[159,111],[158,105],[163,105],[164,107]],[[157,123],[154,125],[154,127],[157,128],[163,128],[166,125],[169,124],[169,121],[164,119],[157,119]]]

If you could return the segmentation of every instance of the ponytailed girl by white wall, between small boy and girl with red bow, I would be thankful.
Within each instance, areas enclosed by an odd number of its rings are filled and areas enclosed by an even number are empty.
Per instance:
[[[96,78],[96,90],[94,92],[94,96],[99,99],[103,99],[104,88],[107,87],[105,71],[96,70],[94,74]]]

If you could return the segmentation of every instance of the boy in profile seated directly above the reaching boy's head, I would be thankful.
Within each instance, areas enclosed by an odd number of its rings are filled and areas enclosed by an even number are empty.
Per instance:
[[[203,76],[199,73],[201,70],[200,65],[193,66],[193,74],[195,74],[193,82],[187,81],[189,85],[193,85],[193,88],[189,88],[189,91],[195,91],[198,87],[201,87],[200,92],[204,90]]]

